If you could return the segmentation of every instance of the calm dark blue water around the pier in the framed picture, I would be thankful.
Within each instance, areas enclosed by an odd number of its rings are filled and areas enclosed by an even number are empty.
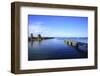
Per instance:
[[[87,43],[87,38],[54,38],[28,43],[28,60],[78,59],[87,58],[87,51],[68,46],[64,40]]]

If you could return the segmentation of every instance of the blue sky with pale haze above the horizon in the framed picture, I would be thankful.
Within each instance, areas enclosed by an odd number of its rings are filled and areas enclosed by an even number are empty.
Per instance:
[[[28,15],[28,36],[87,37],[88,17]]]

